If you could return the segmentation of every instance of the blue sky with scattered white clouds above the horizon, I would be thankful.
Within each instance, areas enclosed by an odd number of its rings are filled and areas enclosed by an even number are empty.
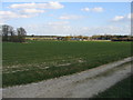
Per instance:
[[[130,2],[2,2],[0,24],[35,36],[130,34]]]

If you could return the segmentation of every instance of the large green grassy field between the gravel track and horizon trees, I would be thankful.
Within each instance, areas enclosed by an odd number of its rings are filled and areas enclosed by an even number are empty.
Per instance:
[[[3,42],[3,87],[80,72],[131,56],[131,42]]]

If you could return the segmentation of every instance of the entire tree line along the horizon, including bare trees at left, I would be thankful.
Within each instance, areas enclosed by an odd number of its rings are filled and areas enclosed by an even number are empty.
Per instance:
[[[27,31],[24,28],[17,28],[16,30],[13,27],[3,24],[0,28],[2,33],[2,41],[11,41],[11,42],[24,42]],[[28,37],[28,36],[27,36]],[[37,37],[37,36],[31,36]],[[43,38],[43,36],[38,36],[38,38]],[[44,36],[45,37],[45,36]],[[50,37],[50,36],[48,36]],[[51,38],[57,38],[57,40],[112,40],[112,41],[133,41],[133,36],[111,36],[111,34],[103,34],[103,36],[92,36],[92,37],[85,37],[85,36],[66,36],[66,37],[58,37],[53,36]]]

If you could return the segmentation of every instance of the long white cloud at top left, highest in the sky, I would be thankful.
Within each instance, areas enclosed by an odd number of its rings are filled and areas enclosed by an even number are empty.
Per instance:
[[[48,2],[48,3],[18,3],[18,4],[11,4],[11,9],[34,9],[34,8],[40,8],[40,9],[61,9],[64,8],[63,4],[59,2]]]

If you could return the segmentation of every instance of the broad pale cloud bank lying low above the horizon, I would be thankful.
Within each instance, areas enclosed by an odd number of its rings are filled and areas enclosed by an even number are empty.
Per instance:
[[[93,34],[130,34],[131,27],[126,26],[99,26],[76,27],[65,21],[53,21],[45,24],[29,24],[24,27],[29,34],[38,36],[93,36]]]

